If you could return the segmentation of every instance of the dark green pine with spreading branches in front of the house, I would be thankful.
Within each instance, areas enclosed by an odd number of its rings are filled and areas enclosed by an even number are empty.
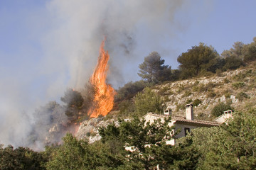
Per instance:
[[[126,162],[119,166],[124,169],[196,169],[198,154],[192,147],[192,140],[182,144],[166,145],[172,137],[169,126],[171,118],[146,123],[135,117],[132,120],[119,120],[118,125],[111,124],[100,128],[102,142],[122,152]],[[133,147],[132,152],[123,146]],[[127,156],[129,155],[129,156]]]

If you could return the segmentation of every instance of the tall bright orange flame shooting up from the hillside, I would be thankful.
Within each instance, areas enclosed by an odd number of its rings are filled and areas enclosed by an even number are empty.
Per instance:
[[[106,84],[107,62],[110,59],[108,52],[104,50],[105,40],[102,41],[100,46],[100,55],[97,60],[95,71],[90,77],[90,83],[95,87],[94,106],[88,112],[90,118],[97,118],[99,115],[107,115],[114,106],[114,95],[116,92],[110,86]]]

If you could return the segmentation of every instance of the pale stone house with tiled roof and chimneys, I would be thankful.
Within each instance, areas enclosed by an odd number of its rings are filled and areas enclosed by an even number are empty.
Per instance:
[[[144,119],[146,120],[146,122],[154,122],[154,120],[157,120],[159,118],[164,121],[164,118],[168,118],[169,116],[171,116],[171,122],[169,123],[169,125],[174,126],[174,130],[172,133],[175,134],[178,132],[178,134],[174,136],[174,139],[166,141],[166,143],[169,145],[174,145],[177,138],[185,137],[187,133],[191,131],[191,129],[219,126],[220,124],[224,123],[227,118],[230,118],[231,114],[232,111],[225,111],[223,115],[220,115],[220,117],[216,118],[213,121],[196,120],[193,118],[193,104],[190,103],[186,105],[186,117],[173,116],[171,115],[171,110],[166,109],[166,111],[164,111],[164,115],[147,113],[146,115],[144,115]]]

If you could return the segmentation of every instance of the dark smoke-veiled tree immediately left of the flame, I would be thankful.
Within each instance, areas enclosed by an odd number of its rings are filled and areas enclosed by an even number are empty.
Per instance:
[[[66,103],[67,110],[65,111],[65,114],[68,116],[76,115],[78,111],[82,109],[84,101],[80,92],[73,89],[65,91],[64,96],[61,97],[60,100]]]

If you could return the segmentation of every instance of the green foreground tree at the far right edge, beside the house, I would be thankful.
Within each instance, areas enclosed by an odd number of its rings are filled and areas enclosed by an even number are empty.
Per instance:
[[[246,113],[238,112],[223,129],[230,135],[230,150],[235,154],[238,169],[255,169],[256,167],[256,110]]]

